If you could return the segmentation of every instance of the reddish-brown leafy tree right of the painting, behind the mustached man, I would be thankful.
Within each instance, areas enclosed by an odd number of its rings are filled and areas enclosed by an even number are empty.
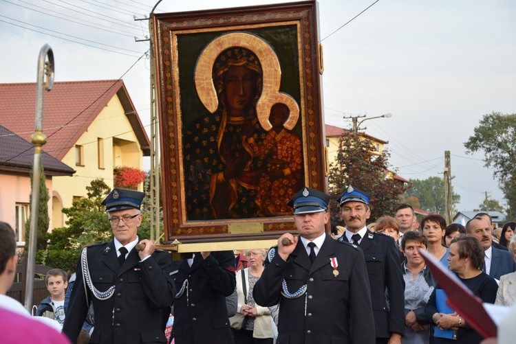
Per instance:
[[[373,154],[375,148],[371,141],[361,140],[352,132],[345,132],[340,138],[336,163],[330,165],[328,175],[330,191],[330,214],[332,222],[341,223],[338,218],[336,201],[348,185],[372,194],[371,219],[391,214],[405,192],[402,183],[389,178],[389,153],[383,150],[380,155]]]

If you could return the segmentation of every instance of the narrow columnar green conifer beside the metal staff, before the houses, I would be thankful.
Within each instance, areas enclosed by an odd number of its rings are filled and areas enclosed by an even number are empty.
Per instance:
[[[32,181],[32,170],[30,172],[30,180]],[[47,231],[50,224],[50,218],[48,217],[48,200],[50,196],[46,185],[47,178],[43,166],[41,166],[40,178],[39,178],[39,211],[38,211],[38,222],[36,229],[36,264],[42,264],[44,256],[41,252],[45,251],[47,247]],[[32,188],[33,189],[33,188]],[[32,191],[29,195],[29,203],[32,204]],[[23,255],[27,256],[29,253],[29,237],[30,237],[30,221],[34,214],[30,214],[27,222],[25,222],[25,246],[23,247]]]

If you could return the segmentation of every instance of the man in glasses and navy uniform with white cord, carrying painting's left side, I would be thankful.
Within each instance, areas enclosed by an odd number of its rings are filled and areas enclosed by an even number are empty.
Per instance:
[[[114,189],[103,201],[115,236],[81,252],[63,332],[72,343],[94,308],[90,343],[166,343],[163,314],[169,314],[171,256],[141,240],[136,251],[143,192]]]

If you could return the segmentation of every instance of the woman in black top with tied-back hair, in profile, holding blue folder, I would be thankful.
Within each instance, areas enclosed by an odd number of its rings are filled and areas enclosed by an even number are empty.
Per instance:
[[[482,271],[484,268],[484,249],[477,238],[471,236],[458,236],[451,241],[448,257],[449,268],[464,285],[482,301],[494,303],[498,284],[495,279]],[[439,286],[436,290],[440,289]],[[455,343],[474,344],[482,341],[482,336],[469,327],[460,314],[443,314],[436,306],[436,290],[430,296],[424,313],[441,330],[456,330],[457,339],[444,339],[434,337],[434,344]]]

